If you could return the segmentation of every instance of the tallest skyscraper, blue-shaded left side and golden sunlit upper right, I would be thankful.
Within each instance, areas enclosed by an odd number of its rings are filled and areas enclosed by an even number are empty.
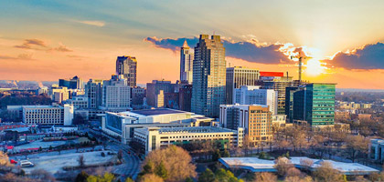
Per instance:
[[[218,117],[225,104],[225,48],[219,35],[200,35],[193,62],[192,112]]]

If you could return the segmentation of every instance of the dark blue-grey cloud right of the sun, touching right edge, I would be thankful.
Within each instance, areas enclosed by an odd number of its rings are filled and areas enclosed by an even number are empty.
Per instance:
[[[330,66],[346,69],[384,69],[384,44],[364,45],[351,52],[338,52],[324,60]]]

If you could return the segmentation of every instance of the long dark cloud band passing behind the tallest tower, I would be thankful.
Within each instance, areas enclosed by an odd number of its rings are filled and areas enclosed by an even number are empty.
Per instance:
[[[156,47],[165,48],[172,51],[179,50],[187,40],[189,46],[194,46],[198,42],[197,37],[193,38],[157,38],[146,37],[144,41],[154,44]],[[294,47],[292,44],[265,44],[259,43],[252,38],[250,41],[234,42],[222,39],[223,45],[226,48],[226,56],[240,58],[249,62],[261,64],[281,64],[292,63],[289,59],[293,53],[303,52],[301,48]]]

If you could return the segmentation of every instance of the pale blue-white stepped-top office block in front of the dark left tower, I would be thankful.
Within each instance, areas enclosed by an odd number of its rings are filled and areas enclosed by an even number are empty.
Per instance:
[[[112,76],[102,84],[102,108],[108,111],[126,111],[131,108],[131,87],[123,76]]]

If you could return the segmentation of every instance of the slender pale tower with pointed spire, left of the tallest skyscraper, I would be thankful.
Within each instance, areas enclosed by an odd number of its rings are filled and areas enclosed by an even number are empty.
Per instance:
[[[193,77],[193,51],[189,48],[187,40],[180,48],[180,81],[192,84]]]

